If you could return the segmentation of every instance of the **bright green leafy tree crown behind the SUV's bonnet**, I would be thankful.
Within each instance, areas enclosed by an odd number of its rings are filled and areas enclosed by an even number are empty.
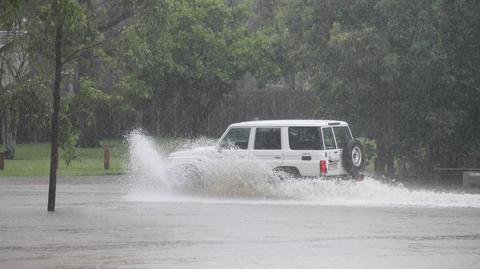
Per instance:
[[[120,100],[139,110],[153,104],[185,110],[183,132],[195,135],[223,94],[247,72],[261,84],[278,78],[275,39],[268,30],[250,31],[248,1],[145,1],[118,39],[123,67],[116,84]]]

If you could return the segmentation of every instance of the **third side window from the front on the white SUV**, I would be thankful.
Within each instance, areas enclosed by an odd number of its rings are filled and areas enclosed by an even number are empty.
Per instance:
[[[292,150],[323,149],[322,133],[319,127],[289,127],[288,142]]]

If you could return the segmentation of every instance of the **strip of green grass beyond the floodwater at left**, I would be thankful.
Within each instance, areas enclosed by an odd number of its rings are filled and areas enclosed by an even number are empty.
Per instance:
[[[102,146],[108,145],[110,151],[110,169],[108,173],[121,173],[125,165],[128,147],[122,140],[102,140]],[[3,148],[3,147],[1,147]],[[63,151],[59,151],[58,175],[94,176],[104,175],[103,147],[80,148],[79,159],[65,164]],[[50,171],[50,144],[17,144],[13,160],[5,160],[5,169],[1,176],[48,176]]]

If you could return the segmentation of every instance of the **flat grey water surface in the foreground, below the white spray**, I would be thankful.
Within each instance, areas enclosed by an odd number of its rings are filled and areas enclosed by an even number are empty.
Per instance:
[[[135,199],[115,176],[47,194],[0,178],[0,268],[480,268],[479,207]]]

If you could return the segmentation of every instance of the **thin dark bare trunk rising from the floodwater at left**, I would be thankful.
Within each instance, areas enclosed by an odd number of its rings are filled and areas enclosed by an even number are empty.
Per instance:
[[[63,35],[63,16],[60,14],[60,7],[55,2],[55,78],[53,81],[53,114],[52,114],[52,134],[51,134],[51,154],[50,154],[50,184],[48,189],[48,211],[55,211],[55,193],[57,187],[57,168],[58,168],[58,118],[60,110],[60,83],[62,80],[62,35]]]

